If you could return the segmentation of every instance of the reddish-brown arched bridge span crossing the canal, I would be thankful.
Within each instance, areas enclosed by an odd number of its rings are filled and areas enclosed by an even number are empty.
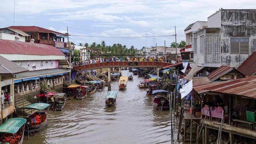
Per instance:
[[[182,63],[172,64],[168,62],[156,62],[156,61],[144,61],[144,62],[132,62],[132,61],[111,61],[111,62],[99,62],[93,64],[85,64],[74,66],[73,70],[85,71],[94,70],[99,68],[167,68],[178,66]]]

